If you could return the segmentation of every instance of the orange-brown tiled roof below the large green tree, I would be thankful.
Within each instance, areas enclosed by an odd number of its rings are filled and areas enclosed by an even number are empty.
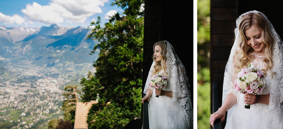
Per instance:
[[[96,101],[92,102],[78,102],[76,104],[75,125],[74,129],[87,129],[86,118],[92,104],[97,104]]]

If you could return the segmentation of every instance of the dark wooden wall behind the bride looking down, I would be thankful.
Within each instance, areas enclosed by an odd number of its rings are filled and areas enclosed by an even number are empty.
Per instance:
[[[234,42],[234,29],[239,15],[257,10],[265,14],[279,36],[283,34],[282,24],[283,1],[251,0],[211,0],[210,3],[210,80],[219,85],[219,101],[222,102],[223,77],[230,50]],[[212,93],[212,89],[211,89]],[[211,94],[211,102],[212,94]],[[219,105],[221,106],[221,105]],[[212,104],[211,104],[212,111]],[[221,124],[225,127],[225,121]]]

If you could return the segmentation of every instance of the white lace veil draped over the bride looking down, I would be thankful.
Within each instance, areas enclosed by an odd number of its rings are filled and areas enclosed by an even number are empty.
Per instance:
[[[249,11],[247,13],[242,14],[239,16],[239,18],[236,20],[236,28],[235,28],[235,42],[231,49],[231,53],[227,62],[227,65],[225,67],[225,73],[224,73],[224,82],[223,82],[223,96],[222,96],[222,104],[225,101],[225,98],[228,94],[229,88],[231,85],[233,85],[234,81],[231,80],[231,75],[233,72],[233,56],[235,55],[235,52],[238,48],[238,39],[240,37],[239,32],[239,24],[241,21],[242,16],[247,15],[249,13],[259,13],[261,14],[265,20],[268,23],[269,30],[271,32],[272,37],[274,38],[274,48],[273,48],[273,67],[272,71],[276,72],[277,74],[273,75],[272,80],[270,81],[270,98],[269,98],[269,110],[272,111],[272,114],[275,115],[277,118],[280,118],[279,120],[275,120],[274,124],[279,124],[283,120],[283,113],[282,113],[282,106],[280,106],[280,103],[283,102],[283,55],[282,55],[282,40],[276,33],[273,25],[270,23],[270,21],[267,19],[267,17],[256,10]],[[267,75],[269,76],[269,75]],[[236,106],[236,105],[235,105]],[[234,108],[231,108],[228,111],[227,115],[227,121],[233,112]],[[276,118],[275,117],[275,118]],[[272,119],[272,118],[271,118]]]

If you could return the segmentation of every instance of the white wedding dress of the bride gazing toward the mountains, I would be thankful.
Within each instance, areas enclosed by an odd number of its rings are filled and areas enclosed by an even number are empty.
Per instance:
[[[159,72],[164,75],[164,70]],[[163,90],[169,91],[170,85]],[[155,97],[155,88],[148,104],[150,129],[188,129],[185,115],[177,101],[167,96]]]

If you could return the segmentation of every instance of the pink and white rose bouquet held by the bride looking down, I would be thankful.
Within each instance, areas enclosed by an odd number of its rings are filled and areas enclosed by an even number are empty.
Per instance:
[[[250,94],[261,93],[265,87],[264,74],[249,64],[246,69],[242,69],[237,75],[235,82],[236,91],[243,91]],[[246,109],[250,109],[250,104],[245,104]]]

